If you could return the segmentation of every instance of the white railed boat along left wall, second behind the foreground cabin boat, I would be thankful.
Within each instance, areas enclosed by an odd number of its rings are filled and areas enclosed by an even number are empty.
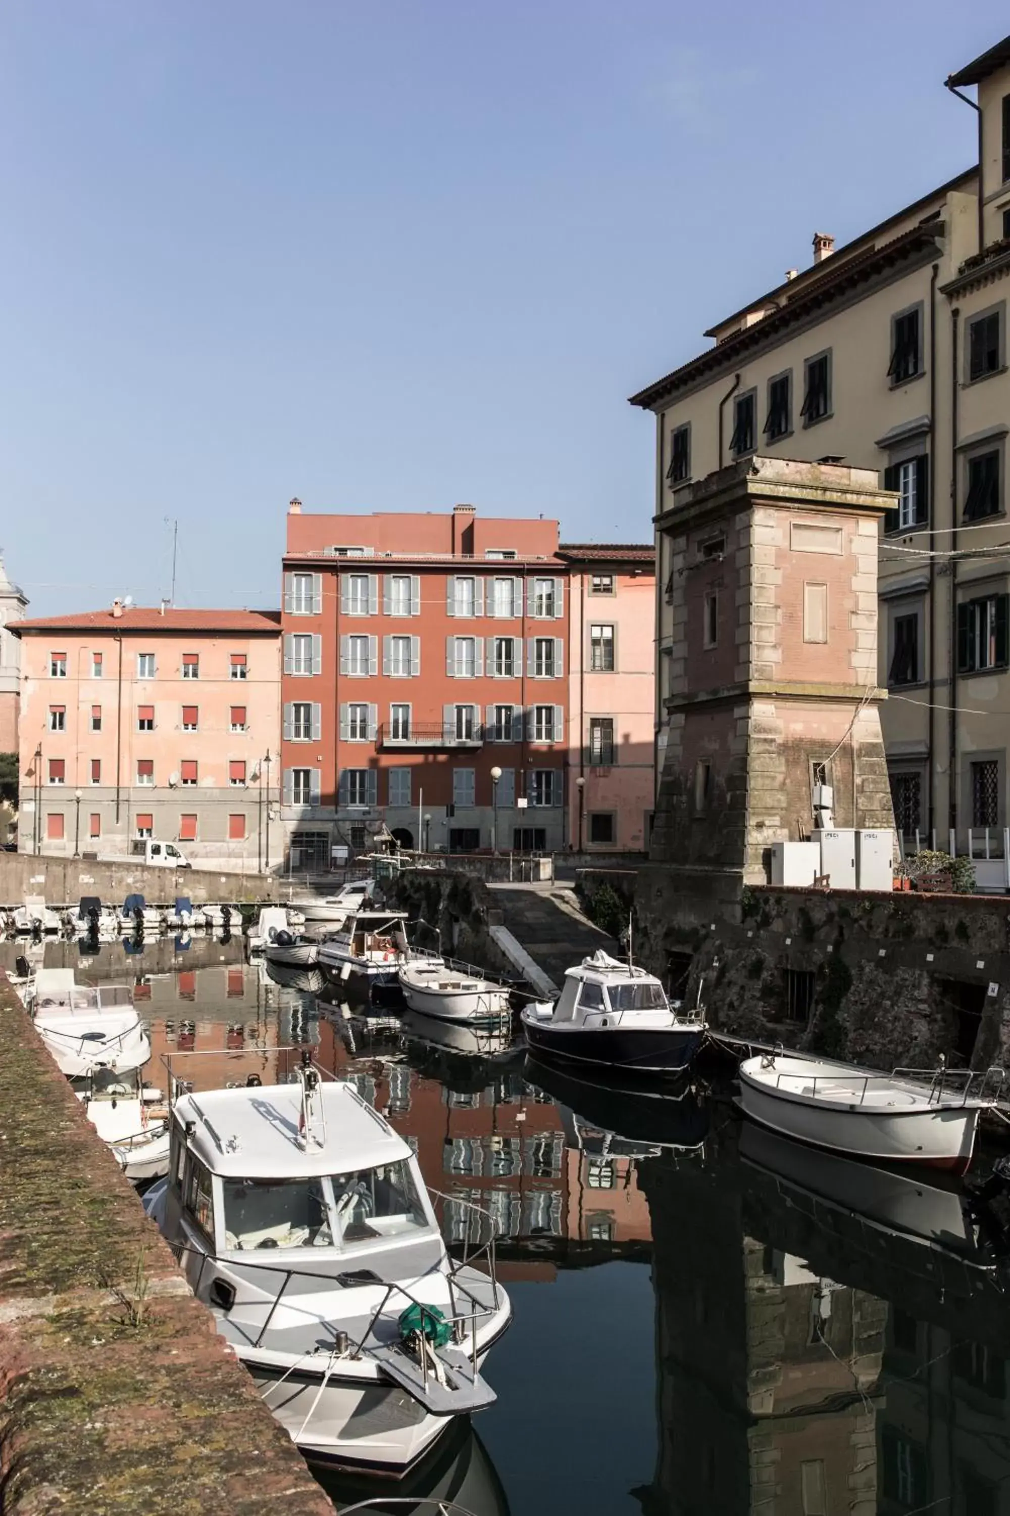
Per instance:
[[[126,984],[76,984],[73,969],[39,969],[26,991],[35,1029],[68,1078],[142,1069],[147,1029]]]

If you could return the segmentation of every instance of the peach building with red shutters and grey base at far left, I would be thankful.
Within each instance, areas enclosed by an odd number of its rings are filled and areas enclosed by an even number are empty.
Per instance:
[[[8,632],[21,643],[21,852],[117,857],[153,837],[197,867],[280,861],[276,611],[114,602]]]

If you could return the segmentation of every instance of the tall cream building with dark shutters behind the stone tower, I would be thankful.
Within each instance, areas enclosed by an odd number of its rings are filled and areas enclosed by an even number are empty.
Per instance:
[[[939,846],[955,829],[959,852],[989,828],[996,852],[1010,823],[1010,38],[946,83],[965,102],[951,99],[952,132],[977,94],[981,176],[968,168],[845,247],[815,235],[812,267],[724,317],[704,353],[631,403],[657,420],[660,769],[678,493],[751,453],[875,468],[896,491],[877,679],[898,826]],[[739,641],[737,603],[719,614]]]

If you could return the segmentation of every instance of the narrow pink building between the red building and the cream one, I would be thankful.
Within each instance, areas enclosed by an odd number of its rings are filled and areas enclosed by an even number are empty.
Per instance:
[[[656,763],[656,552],[562,544],[569,605],[568,835],[577,852],[645,852]]]

